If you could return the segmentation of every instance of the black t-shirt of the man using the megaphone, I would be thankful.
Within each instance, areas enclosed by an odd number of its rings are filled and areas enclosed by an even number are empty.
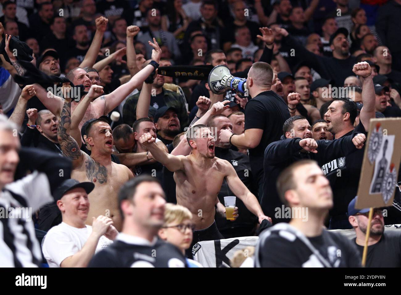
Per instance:
[[[280,139],[284,122],[290,118],[290,112],[281,96],[269,90],[261,92],[249,100],[245,106],[245,130],[262,129],[259,144],[249,149],[251,169],[256,179],[263,177],[263,155],[266,147]]]

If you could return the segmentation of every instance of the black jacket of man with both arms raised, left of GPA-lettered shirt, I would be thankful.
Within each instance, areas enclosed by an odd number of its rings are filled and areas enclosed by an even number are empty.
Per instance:
[[[265,150],[263,163],[264,181],[263,196],[261,207],[265,215],[271,217],[273,223],[289,222],[289,219],[275,218],[275,208],[281,208],[283,203],[280,201],[276,181],[278,175],[292,163],[302,159],[312,159],[318,162],[319,166],[324,165],[328,160],[336,157],[343,157],[354,151],[356,147],[352,143],[352,138],[358,134],[355,132],[350,136],[343,136],[336,140],[317,140],[318,153],[302,153],[299,142],[301,138],[284,138],[272,142]]]

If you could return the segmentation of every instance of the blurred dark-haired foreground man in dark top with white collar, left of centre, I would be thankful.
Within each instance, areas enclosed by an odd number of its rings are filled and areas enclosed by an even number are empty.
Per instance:
[[[88,267],[186,267],[180,250],[157,238],[164,222],[165,197],[155,177],[144,175],[125,183],[118,193],[122,232],[95,254]]]

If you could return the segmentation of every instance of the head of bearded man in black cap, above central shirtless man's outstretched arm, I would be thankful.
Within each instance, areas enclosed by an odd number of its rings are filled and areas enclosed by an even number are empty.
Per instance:
[[[178,120],[175,108],[164,106],[157,110],[154,116],[157,138],[165,145],[173,142],[174,137],[181,132],[180,120]]]

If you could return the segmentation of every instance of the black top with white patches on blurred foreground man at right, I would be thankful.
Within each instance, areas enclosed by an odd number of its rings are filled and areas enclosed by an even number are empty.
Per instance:
[[[286,228],[294,229],[279,223],[259,236],[255,258],[260,267],[328,267],[327,264],[331,267],[360,267],[355,244],[342,234],[324,230],[320,236],[305,237],[308,244],[318,250],[320,255],[317,255]]]

